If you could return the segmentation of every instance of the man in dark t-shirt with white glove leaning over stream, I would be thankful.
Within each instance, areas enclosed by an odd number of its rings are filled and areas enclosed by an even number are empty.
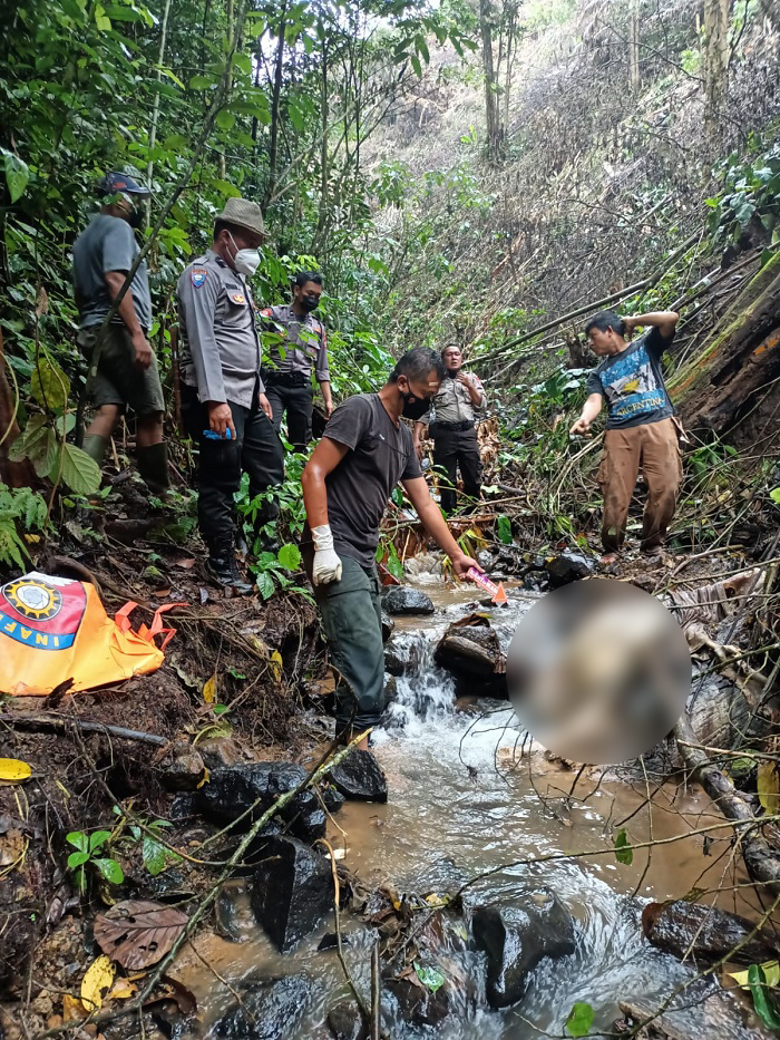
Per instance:
[[[458,547],[420,470],[411,430],[443,378],[436,351],[417,347],[379,393],[360,393],[333,412],[303,470],[306,527],[301,547],[339,673],[337,735],[349,740],[379,721],[384,649],[374,563],[388,498],[400,480],[457,577],[481,568]]]

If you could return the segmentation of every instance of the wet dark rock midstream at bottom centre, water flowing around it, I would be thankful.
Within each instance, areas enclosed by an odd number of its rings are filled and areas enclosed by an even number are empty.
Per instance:
[[[574,920],[546,887],[529,888],[521,905],[479,906],[474,937],[487,954],[486,994],[493,1008],[517,1003],[542,958],[574,953]]]

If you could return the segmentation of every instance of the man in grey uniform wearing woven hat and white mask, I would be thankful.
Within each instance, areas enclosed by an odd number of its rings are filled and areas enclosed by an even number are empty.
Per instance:
[[[284,478],[282,443],[260,376],[260,339],[248,279],[265,239],[260,206],[228,198],[214,225],[212,247],[178,280],[182,415],[198,457],[198,522],[208,546],[208,570],[234,593],[246,595],[235,556],[234,495],[242,472],[250,496]],[[257,526],[277,513],[266,502]]]

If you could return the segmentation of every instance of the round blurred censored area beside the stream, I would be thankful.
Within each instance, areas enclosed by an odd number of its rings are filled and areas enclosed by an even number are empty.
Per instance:
[[[589,765],[636,758],[674,727],[691,689],[691,655],[666,608],[610,579],[550,592],[518,624],[509,696],[548,750]]]

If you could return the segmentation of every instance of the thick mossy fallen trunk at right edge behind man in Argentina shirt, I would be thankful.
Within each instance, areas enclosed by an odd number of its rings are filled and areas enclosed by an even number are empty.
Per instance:
[[[780,253],[745,285],[710,343],[669,380],[690,429],[725,434],[763,395],[778,399]]]

